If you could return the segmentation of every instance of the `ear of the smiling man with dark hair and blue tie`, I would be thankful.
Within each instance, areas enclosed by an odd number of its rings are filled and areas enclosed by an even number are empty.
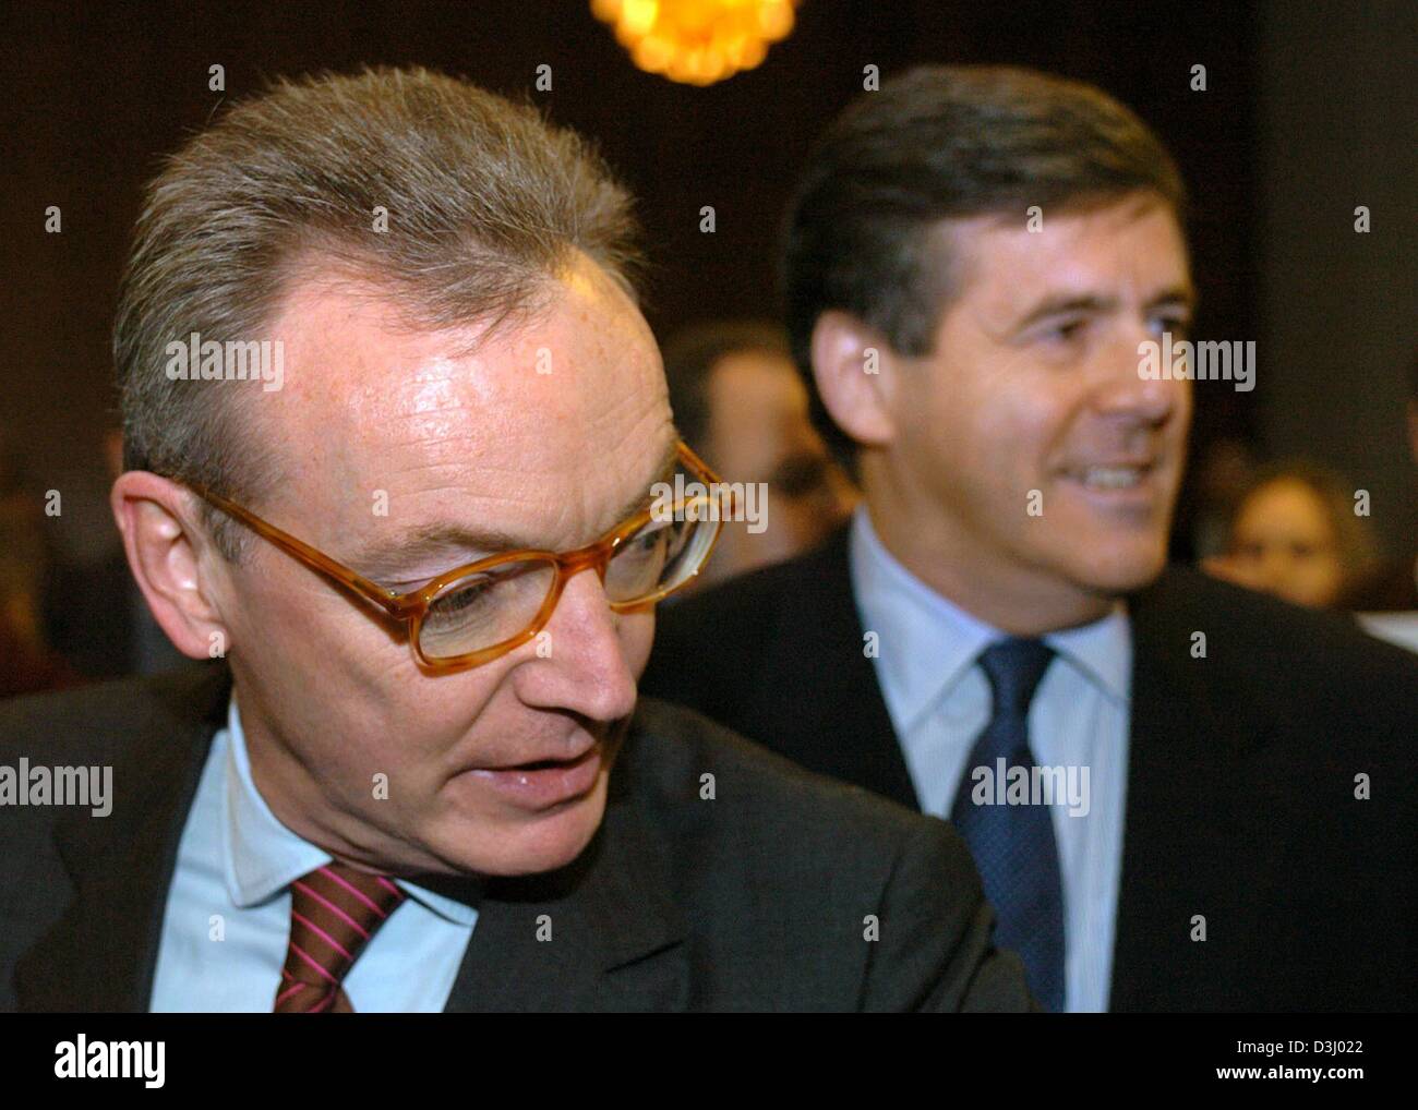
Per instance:
[[[864,447],[895,437],[891,400],[896,390],[896,354],[873,327],[848,312],[830,309],[813,327],[813,379],[822,405],[847,435]]]

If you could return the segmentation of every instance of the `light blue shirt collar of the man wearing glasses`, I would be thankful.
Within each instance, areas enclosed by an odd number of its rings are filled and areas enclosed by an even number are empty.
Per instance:
[[[302,875],[330,862],[322,848],[288,829],[267,805],[251,777],[247,737],[235,692],[227,707],[227,753],[221,790],[221,856],[227,892],[235,906],[258,906]],[[454,924],[472,926],[478,912],[407,879],[394,880],[410,897]]]

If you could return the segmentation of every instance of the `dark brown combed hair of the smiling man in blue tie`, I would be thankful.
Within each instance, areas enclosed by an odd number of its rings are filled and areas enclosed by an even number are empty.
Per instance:
[[[929,354],[959,293],[942,220],[1086,211],[1150,190],[1183,218],[1161,142],[1092,85],[1007,67],[922,67],[849,105],[808,159],[788,207],[783,298],[813,421],[855,471],[855,444],[813,383],[818,316],[839,309],[906,356]]]

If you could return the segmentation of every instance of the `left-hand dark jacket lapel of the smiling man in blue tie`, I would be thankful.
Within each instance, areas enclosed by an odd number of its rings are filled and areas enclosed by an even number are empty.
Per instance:
[[[781,594],[752,720],[784,756],[920,808],[900,741],[864,648],[852,593],[849,526],[807,556]]]

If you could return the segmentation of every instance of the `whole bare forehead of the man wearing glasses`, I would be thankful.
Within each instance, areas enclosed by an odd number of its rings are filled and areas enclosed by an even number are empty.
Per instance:
[[[332,554],[546,546],[659,475],[674,432],[658,350],[648,330],[634,349],[635,320],[605,319],[628,302],[580,281],[501,327],[442,332],[366,288],[292,292],[286,388],[265,430],[296,461],[288,496]]]

